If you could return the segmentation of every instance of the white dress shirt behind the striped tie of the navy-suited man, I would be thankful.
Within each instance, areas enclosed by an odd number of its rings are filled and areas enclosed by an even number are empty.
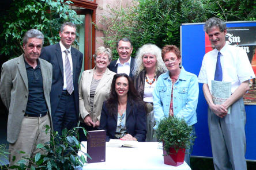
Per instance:
[[[65,72],[65,58],[66,58],[66,47],[62,44],[62,42],[59,42],[59,45],[61,46],[61,54],[62,54],[62,63],[63,63],[63,90],[67,89],[67,81],[66,81],[66,72]],[[69,63],[70,63],[70,68],[71,68],[71,73],[73,76],[73,63],[72,63],[72,57],[71,57],[71,47],[67,49],[69,51],[68,57],[69,57]]]

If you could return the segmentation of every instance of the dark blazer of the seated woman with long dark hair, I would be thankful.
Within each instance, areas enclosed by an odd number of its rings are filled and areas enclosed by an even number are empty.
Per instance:
[[[116,110],[117,110],[116,104]],[[106,130],[106,140],[109,141],[111,138],[115,138],[115,131],[117,126],[117,114],[110,115],[106,106],[106,101],[103,103],[101,116],[100,116],[100,128]],[[127,133],[137,138],[138,141],[143,142],[146,139],[146,111],[143,106],[137,104],[132,105],[127,101],[126,106],[126,122],[125,126]]]

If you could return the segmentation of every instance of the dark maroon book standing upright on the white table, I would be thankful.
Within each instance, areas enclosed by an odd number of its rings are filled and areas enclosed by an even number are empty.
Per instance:
[[[92,130],[87,134],[87,163],[100,163],[106,161],[106,131]]]

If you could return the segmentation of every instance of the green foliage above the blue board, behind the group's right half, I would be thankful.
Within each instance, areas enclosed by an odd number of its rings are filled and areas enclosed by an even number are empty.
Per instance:
[[[137,0],[126,7],[110,7],[101,24],[104,44],[118,58],[115,42],[129,37],[133,42],[133,56],[137,49],[146,43],[163,47],[174,44],[179,47],[182,23],[205,22],[210,17],[224,21],[256,20],[255,0]]]

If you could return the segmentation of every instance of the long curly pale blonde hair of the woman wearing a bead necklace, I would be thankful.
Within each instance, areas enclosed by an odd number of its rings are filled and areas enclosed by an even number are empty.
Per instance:
[[[145,44],[137,52],[134,61],[133,75],[138,75],[144,69],[144,64],[142,63],[142,57],[146,54],[152,54],[156,56],[156,70],[155,72],[166,72],[164,61],[161,57],[161,49],[155,44]]]

